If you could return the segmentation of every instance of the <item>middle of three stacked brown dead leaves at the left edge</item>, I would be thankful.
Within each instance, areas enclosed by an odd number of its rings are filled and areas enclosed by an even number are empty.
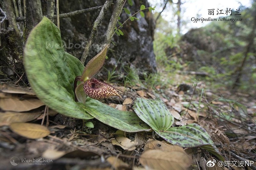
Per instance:
[[[40,100],[35,98],[25,98],[23,100],[20,100],[20,98],[0,98],[0,106],[1,109],[4,111],[16,111],[16,112],[22,112],[22,111],[29,111],[36,108],[39,108],[40,106],[43,106],[44,103],[42,103]]]

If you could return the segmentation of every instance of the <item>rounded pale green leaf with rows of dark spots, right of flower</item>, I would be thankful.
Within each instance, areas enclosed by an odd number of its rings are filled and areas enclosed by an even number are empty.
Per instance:
[[[137,98],[133,109],[140,119],[155,131],[166,131],[174,122],[170,111],[165,104],[159,100]]]

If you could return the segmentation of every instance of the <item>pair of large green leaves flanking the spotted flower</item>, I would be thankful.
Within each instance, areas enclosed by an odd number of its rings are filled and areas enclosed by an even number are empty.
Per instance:
[[[47,44],[49,42],[52,44]],[[85,100],[84,91],[81,90],[83,84],[77,87],[83,100],[75,102],[73,83],[76,76],[82,74],[84,66],[76,57],[64,51],[60,30],[46,17],[29,34],[24,66],[36,96],[60,114],[79,119],[95,117],[127,132],[149,130],[134,112],[116,110],[89,97]]]

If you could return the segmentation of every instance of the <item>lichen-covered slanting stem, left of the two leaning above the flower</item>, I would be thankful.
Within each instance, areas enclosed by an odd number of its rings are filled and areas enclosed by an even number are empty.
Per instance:
[[[96,33],[98,32],[98,28],[101,25],[101,21],[104,18],[104,16],[106,15],[108,8],[110,7],[111,3],[113,0],[106,0],[105,4],[103,5],[103,7],[100,10],[100,14],[98,15],[98,17],[96,18],[96,20],[94,21],[94,24],[92,26],[92,31],[91,34],[89,36],[88,42],[86,44],[86,46],[84,47],[84,52],[83,55],[80,59],[80,61],[84,64],[85,60],[88,56],[89,53],[89,49],[90,46],[92,45],[92,41],[94,39],[94,36],[96,35]]]

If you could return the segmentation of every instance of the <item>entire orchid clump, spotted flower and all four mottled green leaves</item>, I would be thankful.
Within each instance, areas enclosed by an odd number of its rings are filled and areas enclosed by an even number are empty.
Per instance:
[[[172,127],[174,118],[161,101],[137,98],[134,111],[117,110],[98,101],[121,97],[112,86],[93,78],[105,61],[108,47],[104,45],[84,67],[75,56],[65,52],[60,30],[44,17],[30,32],[24,48],[23,61],[30,86],[42,102],[62,115],[96,118],[126,132],[153,130],[173,145],[201,146],[224,160],[209,134],[198,124]]]

